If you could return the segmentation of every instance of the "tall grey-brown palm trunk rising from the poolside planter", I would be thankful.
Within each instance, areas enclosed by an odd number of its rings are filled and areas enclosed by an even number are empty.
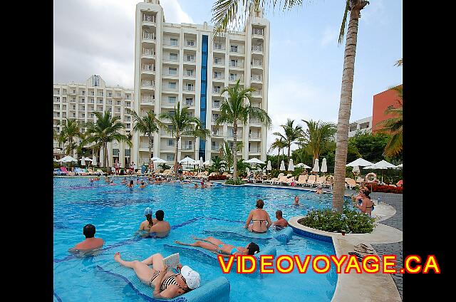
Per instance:
[[[366,6],[366,4],[361,6],[361,8],[351,8],[345,46],[345,55],[343,59],[341,103],[339,105],[337,123],[336,158],[334,163],[333,184],[333,209],[336,209],[339,213],[343,212],[343,195],[345,194],[345,176],[348,150],[348,123],[350,121],[351,111],[356,41],[358,36],[358,19],[359,12],[361,9],[363,9],[364,6]]]

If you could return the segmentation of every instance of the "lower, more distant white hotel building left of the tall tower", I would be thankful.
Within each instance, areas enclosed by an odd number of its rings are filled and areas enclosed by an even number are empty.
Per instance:
[[[80,122],[95,123],[94,112],[104,113],[110,111],[111,115],[120,117],[125,125],[124,134],[133,132],[133,119],[126,112],[126,108],[135,108],[134,93],[117,85],[108,87],[100,75],[92,75],[86,84],[54,84],[53,85],[53,128],[59,133],[61,122],[66,118],[76,119]],[[86,128],[81,127],[81,132]],[[63,157],[63,147],[56,140],[54,144],[54,157]],[[128,165],[130,162],[130,147],[125,142],[108,143],[108,158],[110,165],[118,160],[121,165]],[[103,152],[97,157],[98,163],[103,160]]]

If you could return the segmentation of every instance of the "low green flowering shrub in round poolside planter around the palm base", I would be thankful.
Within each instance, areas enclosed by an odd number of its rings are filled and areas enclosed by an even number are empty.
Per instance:
[[[304,218],[298,220],[299,224],[321,231],[331,231],[352,234],[371,233],[375,219],[358,210],[343,209],[343,214],[333,212],[331,209],[316,209],[307,212]]]

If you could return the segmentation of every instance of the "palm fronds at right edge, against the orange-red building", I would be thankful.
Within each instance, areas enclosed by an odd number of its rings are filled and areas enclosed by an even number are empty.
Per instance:
[[[388,118],[387,120],[382,120],[377,125],[380,125],[378,129],[379,132],[386,132],[390,134],[390,140],[388,144],[385,146],[385,151],[383,152],[384,155],[388,157],[393,157],[398,155],[402,152],[402,128],[403,128],[403,121],[402,121],[402,110],[403,110],[403,98],[402,98],[402,86],[398,86],[392,88],[398,92],[399,106],[397,108],[393,106],[388,106],[385,110],[385,115],[395,115],[392,118]]]

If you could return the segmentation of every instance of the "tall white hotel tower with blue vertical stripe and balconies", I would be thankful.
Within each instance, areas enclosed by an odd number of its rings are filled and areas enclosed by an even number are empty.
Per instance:
[[[269,66],[269,21],[262,11],[248,20],[244,31],[229,31],[214,38],[213,27],[206,22],[170,24],[158,0],[145,0],[136,6],[135,26],[135,111],[153,110],[159,115],[173,111],[177,102],[188,106],[211,131],[207,140],[183,136],[177,159],[189,156],[203,160],[219,156],[227,141],[232,144],[232,125],[215,126],[219,106],[224,99],[220,91],[240,79],[252,87],[252,105],[267,111]],[[238,127],[238,140],[244,142],[238,158],[266,160],[266,131],[258,120]],[[160,130],[153,138],[153,155],[168,162],[175,159],[175,140]],[[134,133],[133,159],[147,162],[148,140]],[[196,148],[196,150],[195,150]]]

